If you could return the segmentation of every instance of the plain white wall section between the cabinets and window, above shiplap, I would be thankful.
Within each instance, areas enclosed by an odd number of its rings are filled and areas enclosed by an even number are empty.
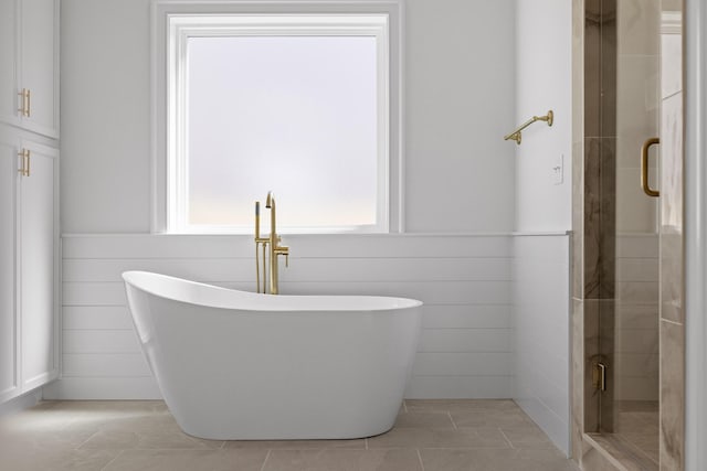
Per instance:
[[[61,4],[63,233],[148,232],[149,0]]]

